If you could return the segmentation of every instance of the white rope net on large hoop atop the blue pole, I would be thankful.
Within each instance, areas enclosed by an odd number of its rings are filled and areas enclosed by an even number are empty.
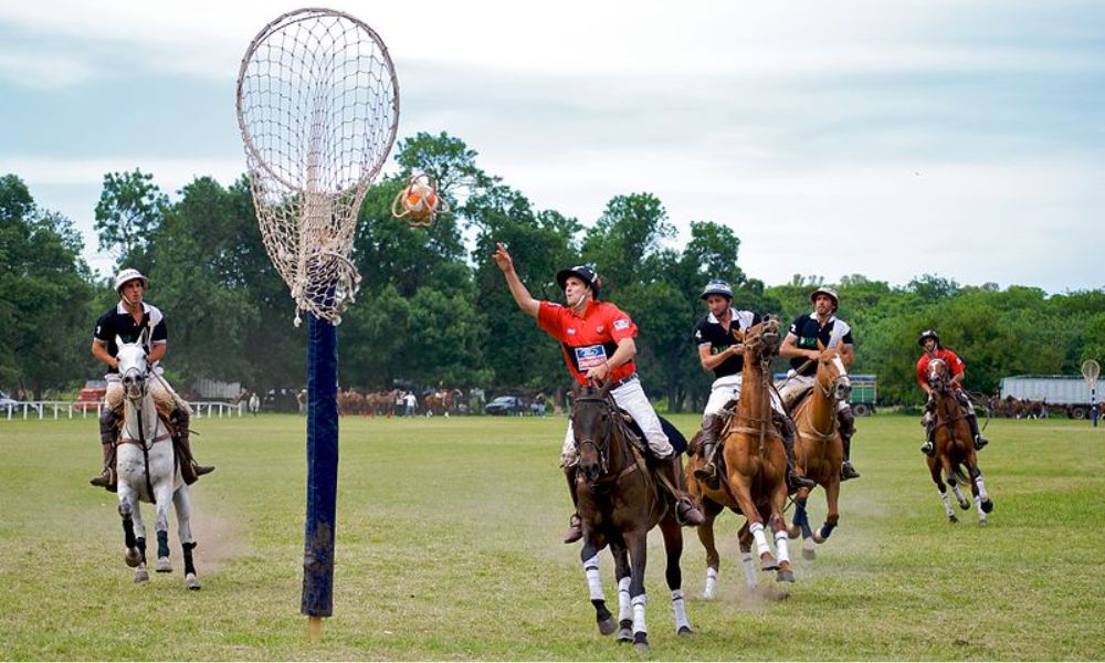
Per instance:
[[[334,324],[360,274],[349,261],[365,193],[399,124],[399,81],[380,36],[356,18],[301,9],[250,43],[238,123],[273,265],[299,312]]]

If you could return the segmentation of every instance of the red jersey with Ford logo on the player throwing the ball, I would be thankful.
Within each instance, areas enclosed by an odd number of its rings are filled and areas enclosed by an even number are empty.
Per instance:
[[[568,372],[580,385],[587,383],[587,370],[602,365],[618,349],[618,341],[636,336],[636,325],[620,308],[609,302],[588,302],[583,315],[575,309],[541,302],[537,324],[560,341]],[[636,372],[631,360],[613,369],[611,380],[621,380]]]

